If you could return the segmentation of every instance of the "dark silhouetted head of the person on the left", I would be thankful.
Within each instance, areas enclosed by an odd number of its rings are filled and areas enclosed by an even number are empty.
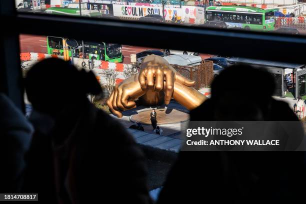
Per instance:
[[[27,72],[25,89],[33,108],[50,115],[85,101],[86,94],[101,91],[93,72],[78,70],[69,61],[58,58],[33,65]]]

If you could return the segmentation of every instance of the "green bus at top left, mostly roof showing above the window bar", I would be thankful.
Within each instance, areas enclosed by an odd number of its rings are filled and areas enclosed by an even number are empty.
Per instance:
[[[47,8],[45,13],[57,14],[57,15],[75,15],[79,16],[79,8],[66,8],[66,7],[50,7]],[[97,10],[85,10],[81,9],[82,16],[87,17],[101,17],[101,13]]]

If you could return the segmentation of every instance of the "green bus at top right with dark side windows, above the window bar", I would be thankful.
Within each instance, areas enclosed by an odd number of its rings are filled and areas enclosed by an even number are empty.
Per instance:
[[[221,20],[227,28],[270,31],[275,28],[274,11],[250,6],[209,6],[205,10],[205,21]]]

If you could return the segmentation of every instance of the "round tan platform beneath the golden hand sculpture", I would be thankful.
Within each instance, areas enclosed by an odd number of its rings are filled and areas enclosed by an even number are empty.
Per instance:
[[[185,110],[172,108],[155,109],[157,113],[157,124],[172,124],[189,120],[189,114]],[[151,124],[150,113],[152,110],[143,110],[138,114],[131,115],[129,120],[141,124]]]

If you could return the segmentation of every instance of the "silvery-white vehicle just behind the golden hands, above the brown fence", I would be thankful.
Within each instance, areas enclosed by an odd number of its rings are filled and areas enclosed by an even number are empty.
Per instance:
[[[198,65],[202,62],[200,56],[194,56],[190,54],[171,54],[163,57],[170,64],[177,64],[181,66]]]

